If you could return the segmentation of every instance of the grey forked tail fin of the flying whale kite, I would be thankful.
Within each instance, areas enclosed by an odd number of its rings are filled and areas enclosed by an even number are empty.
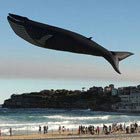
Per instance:
[[[114,51],[111,51],[111,53],[112,53],[112,56],[113,56],[112,57],[113,64],[111,63],[111,65],[116,70],[116,72],[121,74],[121,72],[119,71],[119,61],[133,55],[133,53],[131,53],[131,52],[114,52]]]

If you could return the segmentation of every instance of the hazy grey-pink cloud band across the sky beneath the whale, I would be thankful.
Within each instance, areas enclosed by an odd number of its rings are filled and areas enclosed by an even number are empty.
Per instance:
[[[138,82],[140,73],[135,67],[120,68],[117,74],[107,62],[60,62],[40,60],[4,60],[0,62],[2,78],[50,78],[66,80],[110,80]]]

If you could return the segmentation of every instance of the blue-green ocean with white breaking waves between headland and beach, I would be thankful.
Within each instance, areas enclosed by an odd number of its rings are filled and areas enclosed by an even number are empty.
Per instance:
[[[140,114],[102,112],[88,110],[64,109],[6,109],[0,108],[0,130],[2,135],[38,133],[39,125],[48,126],[53,132],[59,125],[66,129],[77,129],[79,125],[94,125],[102,127],[103,124],[122,123],[129,125],[140,124]]]

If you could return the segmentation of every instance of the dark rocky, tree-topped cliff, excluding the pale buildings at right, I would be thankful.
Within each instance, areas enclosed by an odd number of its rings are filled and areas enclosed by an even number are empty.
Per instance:
[[[112,110],[119,97],[95,91],[43,90],[40,92],[11,95],[4,101],[3,108],[79,108]]]

